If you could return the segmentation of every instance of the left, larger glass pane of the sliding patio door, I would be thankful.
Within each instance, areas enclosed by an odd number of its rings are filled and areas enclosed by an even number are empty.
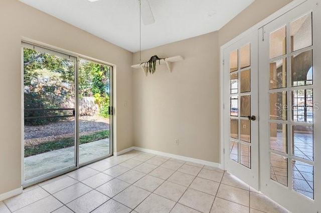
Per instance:
[[[23,52],[25,181],[76,166],[75,60],[39,49]]]

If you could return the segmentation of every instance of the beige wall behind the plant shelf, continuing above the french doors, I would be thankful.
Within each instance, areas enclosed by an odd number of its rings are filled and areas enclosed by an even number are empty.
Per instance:
[[[290,1],[255,0],[219,31],[142,51],[142,60],[154,54],[186,59],[172,73],[166,66],[147,77],[133,70],[134,145],[220,162],[220,46]]]

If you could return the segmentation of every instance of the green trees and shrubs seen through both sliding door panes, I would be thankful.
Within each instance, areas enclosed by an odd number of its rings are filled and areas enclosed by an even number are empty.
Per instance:
[[[61,108],[75,95],[75,62],[64,57],[24,48],[25,117],[66,115],[70,111],[28,110]],[[79,97],[95,97],[99,114],[108,117],[110,67],[88,60],[79,62]],[[26,119],[26,125],[40,125],[58,118]]]

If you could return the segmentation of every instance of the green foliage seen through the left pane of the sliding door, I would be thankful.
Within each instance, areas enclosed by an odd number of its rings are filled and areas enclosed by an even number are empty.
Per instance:
[[[67,112],[29,110],[60,108],[60,103],[74,95],[73,61],[34,49],[24,48],[25,117],[64,115]],[[26,119],[26,125],[40,125],[58,118]]]

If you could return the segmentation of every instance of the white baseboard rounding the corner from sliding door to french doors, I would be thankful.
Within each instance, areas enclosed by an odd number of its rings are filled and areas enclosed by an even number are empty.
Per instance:
[[[162,156],[166,156],[166,157],[172,157],[172,158],[176,158],[176,159],[180,159],[180,160],[184,160],[184,161],[190,161],[190,162],[200,163],[200,164],[209,165],[209,166],[213,166],[213,167],[217,167],[217,168],[222,168],[221,164],[217,163],[217,162],[211,162],[211,161],[207,161],[207,160],[201,160],[201,159],[197,159],[197,158],[186,157],[186,156],[182,156],[182,155],[171,154],[171,153],[156,151],[156,150],[147,149],[147,148],[140,148],[137,146],[132,146],[132,147],[126,148],[124,150],[118,151],[118,152],[116,152],[115,155],[118,156],[120,154],[126,153],[131,150],[143,151],[143,152],[162,155]]]

